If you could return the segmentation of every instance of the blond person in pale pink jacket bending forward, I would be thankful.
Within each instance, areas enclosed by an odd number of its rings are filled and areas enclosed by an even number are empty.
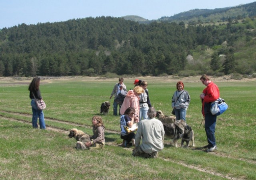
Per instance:
[[[124,102],[122,107],[120,108],[120,114],[123,115],[128,107],[133,107],[135,109],[136,117],[134,118],[134,122],[138,123],[139,114],[140,114],[140,97],[139,95],[144,93],[144,89],[141,86],[134,87],[133,90],[129,90],[126,97],[124,98]]]

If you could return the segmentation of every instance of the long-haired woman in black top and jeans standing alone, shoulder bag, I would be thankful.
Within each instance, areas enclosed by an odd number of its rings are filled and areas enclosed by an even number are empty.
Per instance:
[[[30,91],[29,97],[31,99],[31,107],[32,107],[32,113],[33,113],[32,126],[33,128],[38,128],[37,119],[39,118],[40,129],[46,129],[45,122],[44,122],[44,112],[37,108],[36,101],[34,99],[34,97],[36,97],[36,99],[40,99],[40,100],[42,99],[39,85],[40,85],[40,78],[34,77],[28,87],[28,90]]]

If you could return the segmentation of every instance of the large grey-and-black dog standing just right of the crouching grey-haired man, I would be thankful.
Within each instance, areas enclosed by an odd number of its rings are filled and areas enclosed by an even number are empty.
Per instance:
[[[176,148],[178,147],[178,140],[184,135],[184,131],[187,128],[184,120],[178,120],[174,123],[163,123],[164,125],[164,136],[172,139],[171,144]]]

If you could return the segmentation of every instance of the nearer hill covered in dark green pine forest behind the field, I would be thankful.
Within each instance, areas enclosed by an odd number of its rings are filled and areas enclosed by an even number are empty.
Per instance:
[[[185,26],[104,16],[21,24],[0,30],[0,76],[250,74],[255,27],[252,18]]]

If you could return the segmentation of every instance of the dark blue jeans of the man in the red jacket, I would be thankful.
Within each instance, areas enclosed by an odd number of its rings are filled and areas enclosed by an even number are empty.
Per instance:
[[[204,115],[204,129],[207,136],[207,141],[210,146],[216,145],[215,139],[215,127],[216,127],[217,116],[212,113]]]

